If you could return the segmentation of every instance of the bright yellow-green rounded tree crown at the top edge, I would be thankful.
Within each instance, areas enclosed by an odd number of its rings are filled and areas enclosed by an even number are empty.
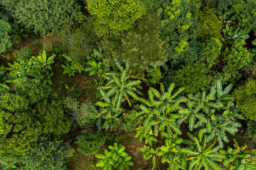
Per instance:
[[[120,36],[133,27],[136,19],[145,14],[146,8],[139,0],[87,0],[87,9],[96,16],[94,23],[98,36]]]

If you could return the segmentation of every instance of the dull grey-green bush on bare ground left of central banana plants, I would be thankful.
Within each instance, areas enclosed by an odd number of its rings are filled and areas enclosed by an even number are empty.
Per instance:
[[[79,103],[76,99],[67,98],[64,101],[72,120],[81,128],[85,128],[90,122],[90,105],[88,103]]]

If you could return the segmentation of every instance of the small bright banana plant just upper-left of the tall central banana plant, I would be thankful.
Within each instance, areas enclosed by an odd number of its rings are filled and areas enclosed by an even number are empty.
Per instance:
[[[98,62],[96,60],[88,61],[87,64],[89,67],[84,68],[84,71],[89,71],[89,76],[93,76],[94,74],[97,74],[98,78],[101,77],[101,74],[103,73],[103,64],[102,62]]]

